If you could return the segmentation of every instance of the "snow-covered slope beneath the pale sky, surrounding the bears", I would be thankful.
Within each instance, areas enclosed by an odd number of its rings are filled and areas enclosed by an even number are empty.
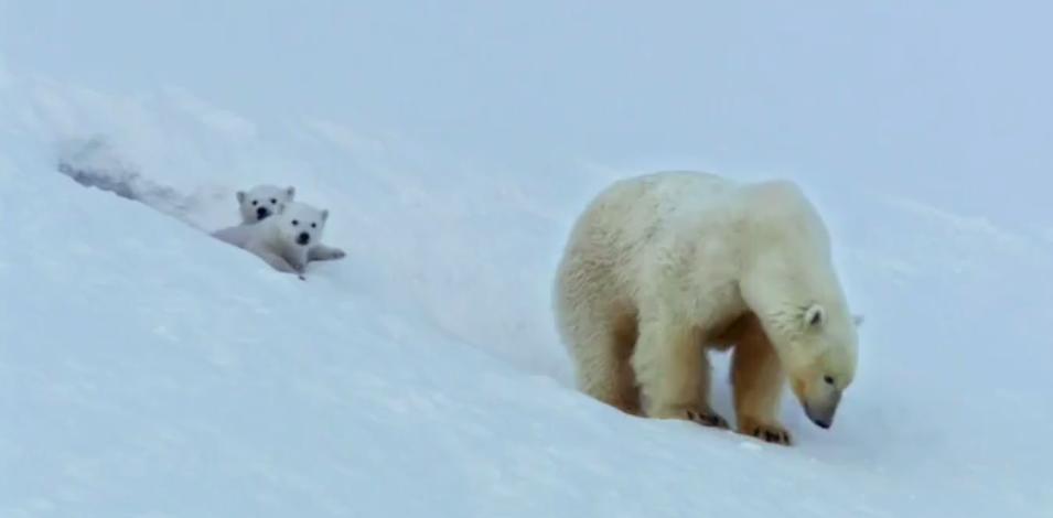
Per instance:
[[[804,175],[862,358],[832,430],[787,398],[798,444],[771,446],[572,388],[552,267],[637,161],[508,165],[114,71],[86,87],[0,56],[0,516],[1053,516],[1049,218]],[[153,206],[56,171],[96,137]],[[202,231],[260,182],[329,207],[348,257],[302,282]]]

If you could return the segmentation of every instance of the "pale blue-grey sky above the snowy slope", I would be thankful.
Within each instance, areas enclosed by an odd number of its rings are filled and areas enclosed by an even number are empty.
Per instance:
[[[25,0],[0,10],[0,55],[524,172],[815,176],[1053,227],[1051,20],[1038,1]]]

